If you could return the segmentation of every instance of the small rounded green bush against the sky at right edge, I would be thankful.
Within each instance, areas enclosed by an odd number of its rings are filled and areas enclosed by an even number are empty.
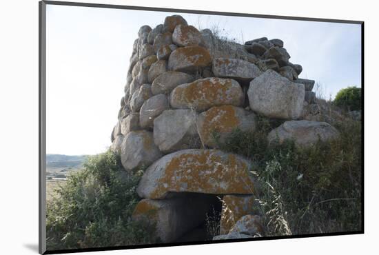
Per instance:
[[[334,104],[345,110],[355,111],[362,108],[362,95],[361,89],[354,87],[343,88],[340,90]]]

